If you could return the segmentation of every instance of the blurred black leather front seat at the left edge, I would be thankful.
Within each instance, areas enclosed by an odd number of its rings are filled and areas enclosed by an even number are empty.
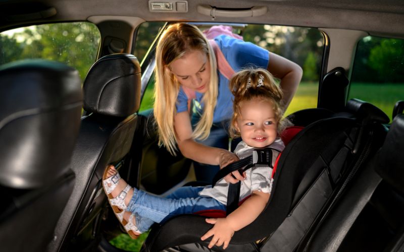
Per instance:
[[[73,191],[80,78],[60,62],[16,61],[0,69],[0,95],[1,247],[44,251]]]

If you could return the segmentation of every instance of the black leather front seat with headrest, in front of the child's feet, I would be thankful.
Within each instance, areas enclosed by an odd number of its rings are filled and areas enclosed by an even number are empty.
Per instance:
[[[108,164],[128,156],[140,106],[140,66],[134,55],[97,60],[84,81],[84,110],[72,157],[76,185],[48,251],[85,250],[99,243],[106,196],[102,176]]]

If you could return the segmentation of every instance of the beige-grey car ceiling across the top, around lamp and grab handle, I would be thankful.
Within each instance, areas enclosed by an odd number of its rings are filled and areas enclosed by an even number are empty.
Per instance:
[[[0,29],[7,30],[27,24],[55,21],[81,21],[88,20],[92,16],[136,17],[144,21],[209,22],[213,21],[212,18],[198,13],[198,6],[235,9],[266,6],[268,12],[262,16],[216,17],[214,21],[350,29],[366,31],[371,35],[404,37],[404,1],[401,0],[192,0],[187,2],[188,12],[186,13],[156,13],[149,11],[148,1],[145,0],[43,0],[35,3],[6,0],[0,3]],[[26,21],[13,18],[49,7],[56,9],[56,15]],[[14,21],[11,21],[13,19]]]

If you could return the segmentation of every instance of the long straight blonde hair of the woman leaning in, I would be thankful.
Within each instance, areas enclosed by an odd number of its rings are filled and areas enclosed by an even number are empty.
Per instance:
[[[170,25],[162,34],[156,48],[156,84],[154,116],[159,134],[159,145],[176,155],[177,139],[174,132],[175,103],[180,83],[169,70],[170,64],[191,50],[200,50],[208,56],[211,65],[211,81],[202,102],[204,111],[192,133],[193,139],[206,139],[213,123],[213,111],[218,96],[218,75],[216,58],[209,41],[193,25],[177,23]]]

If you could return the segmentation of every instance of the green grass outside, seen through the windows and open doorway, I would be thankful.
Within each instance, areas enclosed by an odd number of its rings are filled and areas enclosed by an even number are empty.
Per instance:
[[[286,115],[294,111],[317,107],[317,83],[301,83],[299,88],[286,110]],[[383,110],[391,120],[391,114],[394,104],[398,100],[404,100],[403,84],[375,84],[375,83],[352,83],[348,99],[358,98],[374,104]],[[143,97],[140,110],[148,109],[153,106],[153,86],[149,85]],[[110,242],[121,249],[127,251],[139,251],[143,241],[148,233],[142,234],[137,240],[132,240],[129,235],[122,234]]]

